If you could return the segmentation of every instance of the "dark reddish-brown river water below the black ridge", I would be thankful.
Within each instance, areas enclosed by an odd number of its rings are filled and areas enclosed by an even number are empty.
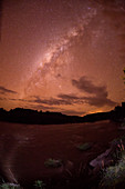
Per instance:
[[[37,180],[59,175],[62,169],[49,169],[49,158],[62,159],[76,168],[103,152],[118,136],[117,123],[110,120],[72,125],[22,125],[0,122],[0,171],[10,182]],[[81,152],[76,146],[92,142],[93,148]]]

